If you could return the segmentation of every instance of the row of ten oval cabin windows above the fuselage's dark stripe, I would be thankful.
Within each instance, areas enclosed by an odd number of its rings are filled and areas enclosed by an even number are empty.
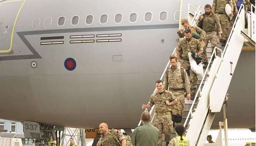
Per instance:
[[[163,11],[160,12],[159,14],[159,21],[166,21],[167,19],[167,12]],[[137,21],[137,13],[131,13],[130,17],[129,17],[129,21],[130,23],[135,23]],[[93,23],[93,15],[88,15],[85,18],[85,24],[90,25]],[[64,16],[59,17],[58,19],[58,26],[63,26],[65,24],[66,18]],[[100,16],[100,23],[101,24],[106,24],[108,21],[108,15],[107,14],[102,14]],[[115,15],[115,19],[114,22],[115,23],[121,23],[123,21],[123,15],[122,14],[116,14]],[[151,12],[146,12],[144,14],[144,21],[145,22],[150,22],[152,21],[152,13]],[[73,16],[73,18],[71,19],[71,24],[72,25],[78,25],[79,23],[79,16]],[[45,18],[44,21],[44,26],[45,27],[49,27],[52,24],[52,18],[51,17],[47,17]],[[37,28],[40,25],[40,19],[39,18],[35,18],[32,22],[32,26],[33,28]]]

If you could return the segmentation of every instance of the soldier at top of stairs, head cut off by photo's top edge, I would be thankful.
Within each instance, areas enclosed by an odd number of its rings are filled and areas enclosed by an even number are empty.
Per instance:
[[[213,0],[213,7],[212,12],[216,13],[220,20],[221,30],[222,30],[222,37],[221,37],[221,43],[222,46],[225,46],[228,36],[229,36],[229,18],[228,15],[225,12],[225,5],[229,4],[231,6],[231,9],[233,11],[233,1],[232,0]],[[230,16],[233,16],[233,12],[231,12]]]

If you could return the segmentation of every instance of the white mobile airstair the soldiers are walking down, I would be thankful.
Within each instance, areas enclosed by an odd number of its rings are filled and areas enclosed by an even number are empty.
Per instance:
[[[215,47],[213,53],[211,53],[211,46],[208,45],[206,53],[209,64],[204,70],[204,76],[198,81],[198,90],[195,99],[192,102],[185,102],[185,113],[183,116],[186,117],[184,118],[185,122],[183,124],[186,129],[185,136],[189,139],[190,146],[204,146],[215,113],[220,112],[223,107],[227,90],[243,46],[247,44],[255,48],[255,13],[252,11],[255,7],[251,5],[251,12],[247,13],[247,29],[244,27],[245,12],[243,8],[244,5],[238,11],[225,47]],[[192,26],[196,25],[199,15],[202,13],[200,6],[194,12],[195,14],[191,12],[188,14],[188,19]],[[193,18],[190,18],[192,16]],[[218,56],[216,55],[217,51]],[[173,54],[175,54],[175,50]],[[212,58],[214,58],[213,61],[211,61]],[[169,66],[170,62],[167,63],[166,68]],[[161,75],[161,80],[164,79],[166,68]],[[156,89],[154,92],[156,92]],[[154,106],[149,113],[152,119],[154,119]],[[141,125],[141,121],[139,125]],[[227,128],[227,123],[225,122],[224,127]],[[222,141],[220,143],[219,146],[222,146]],[[225,146],[228,146],[228,144],[226,143]]]

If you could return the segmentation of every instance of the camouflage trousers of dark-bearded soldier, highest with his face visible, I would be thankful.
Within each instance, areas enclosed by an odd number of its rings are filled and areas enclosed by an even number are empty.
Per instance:
[[[209,41],[211,42],[211,52],[213,52],[214,47],[218,46],[218,43],[220,42],[219,39],[218,39],[217,32],[215,32],[215,31],[206,32],[206,36],[205,36],[205,39],[204,39],[204,43],[205,43],[204,52],[201,54],[201,56],[204,60],[204,63],[208,62],[207,54],[206,54],[206,48],[208,46]]]

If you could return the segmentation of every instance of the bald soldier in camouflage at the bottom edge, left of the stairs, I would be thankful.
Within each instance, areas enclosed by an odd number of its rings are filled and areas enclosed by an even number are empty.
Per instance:
[[[126,138],[123,133],[118,130],[109,130],[107,123],[100,124],[100,133],[102,136],[97,143],[97,146],[126,146]]]

